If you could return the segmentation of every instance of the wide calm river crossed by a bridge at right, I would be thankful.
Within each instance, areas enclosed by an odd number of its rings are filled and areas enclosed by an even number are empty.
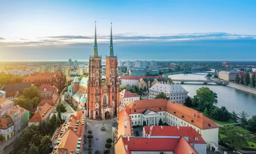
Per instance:
[[[170,75],[172,79],[191,79],[191,80],[206,80],[206,74],[175,74]],[[185,82],[182,86],[189,92],[188,95],[193,97],[196,90],[200,87],[209,87],[210,90],[217,93],[218,104],[216,106],[226,106],[229,112],[233,110],[236,113],[245,111],[250,115],[256,115],[256,95],[237,90],[231,87],[227,87],[215,83],[198,83],[198,82]]]

